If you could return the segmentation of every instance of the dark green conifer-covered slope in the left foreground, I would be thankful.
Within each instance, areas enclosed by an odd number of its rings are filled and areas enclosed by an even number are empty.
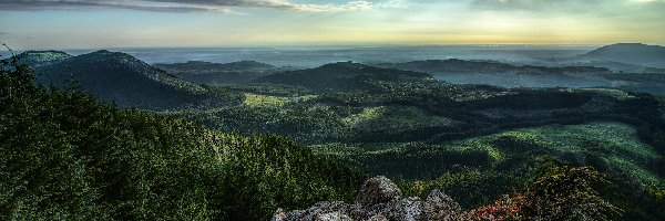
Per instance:
[[[0,220],[267,220],[366,179],[280,136],[119,109],[0,62]]]

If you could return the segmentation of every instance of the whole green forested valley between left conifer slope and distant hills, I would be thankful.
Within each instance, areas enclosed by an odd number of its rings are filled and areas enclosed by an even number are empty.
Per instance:
[[[289,136],[318,155],[403,179],[409,193],[443,189],[466,208],[524,188],[529,171],[543,160],[591,166],[611,176],[617,188],[601,194],[626,218],[665,217],[652,203],[657,194],[642,190],[662,183],[665,175],[663,112],[651,95],[437,81],[364,84],[369,91],[237,85],[227,88],[256,94],[262,99],[254,103],[262,105],[172,114],[226,131]],[[304,95],[313,98],[296,99]]]

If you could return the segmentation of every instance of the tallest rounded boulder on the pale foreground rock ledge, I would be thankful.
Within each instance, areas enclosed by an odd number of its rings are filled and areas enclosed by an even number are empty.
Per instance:
[[[361,206],[396,202],[401,198],[401,190],[386,177],[370,178],[362,185],[357,202]]]

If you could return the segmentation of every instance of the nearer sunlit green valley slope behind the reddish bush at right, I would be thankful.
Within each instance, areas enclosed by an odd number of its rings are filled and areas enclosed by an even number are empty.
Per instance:
[[[665,215],[659,212],[664,203],[657,200],[665,180],[654,167],[662,156],[636,133],[625,124],[592,123],[515,129],[441,144],[326,144],[311,148],[370,172],[401,178],[407,194],[424,197],[441,189],[466,208],[522,190],[544,173],[535,168],[592,166],[614,183],[598,194],[624,210],[624,218],[657,220]]]

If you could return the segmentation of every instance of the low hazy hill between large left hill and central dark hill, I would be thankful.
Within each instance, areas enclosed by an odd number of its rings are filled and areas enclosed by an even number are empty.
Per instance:
[[[190,61],[174,64],[153,64],[170,74],[198,84],[242,84],[285,69],[255,61],[226,64]]]

